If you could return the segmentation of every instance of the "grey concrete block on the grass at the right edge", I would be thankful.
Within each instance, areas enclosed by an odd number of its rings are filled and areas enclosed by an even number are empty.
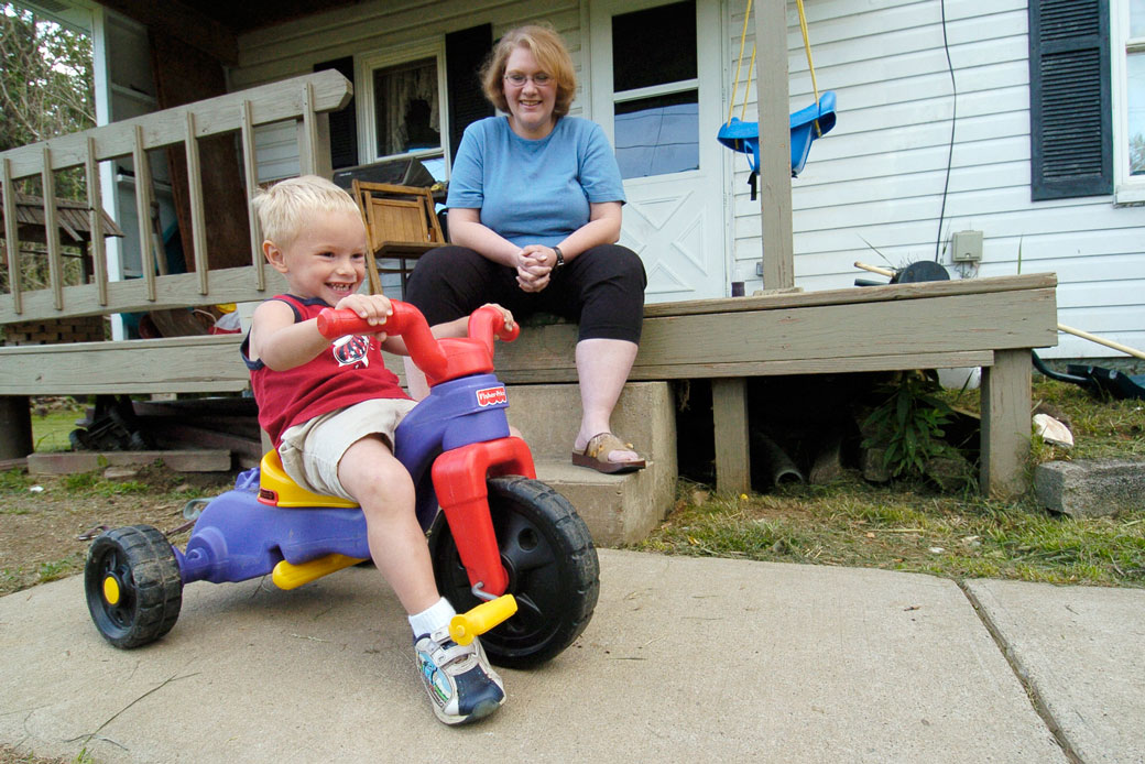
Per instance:
[[[1139,509],[1145,495],[1145,462],[1047,462],[1034,471],[1034,493],[1048,510],[1075,518]]]

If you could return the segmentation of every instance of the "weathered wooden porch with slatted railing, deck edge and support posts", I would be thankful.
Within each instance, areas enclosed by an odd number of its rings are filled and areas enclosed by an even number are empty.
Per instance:
[[[242,147],[246,196],[255,187],[253,128],[293,120],[298,127],[300,168],[330,175],[326,113],[349,97],[349,82],[333,71],[295,78],[124,123],[97,127],[0,155],[6,205],[14,183],[39,178],[53,198],[53,174],[81,167],[88,178],[90,211],[103,207],[101,162],[129,157],[136,178],[149,173],[147,152],[181,145],[190,178],[188,198],[195,241],[194,273],[157,275],[158,252],[145,246],[143,277],[109,281],[102,267],[102,218],[92,212],[93,281],[64,285],[53,267],[48,289],[26,291],[18,277],[0,296],[0,324],[211,306],[266,299],[284,283],[264,268],[260,235],[252,223],[251,265],[211,269],[208,225],[203,204],[198,142],[232,134]],[[782,131],[785,134],[785,129]],[[785,172],[785,170],[783,171]],[[788,179],[789,180],[789,179]],[[141,184],[139,216],[149,218],[147,184]],[[789,190],[789,189],[788,189]],[[765,188],[765,246],[773,236]],[[780,195],[782,196],[782,194]],[[788,192],[788,197],[790,194]],[[782,206],[782,205],[781,205]],[[782,212],[782,211],[781,211]],[[781,214],[782,216],[782,214]],[[1029,447],[1029,348],[1056,344],[1056,277],[1052,274],[973,281],[899,284],[863,289],[798,292],[790,289],[790,198],[787,260],[765,261],[767,283],[787,288],[760,297],[697,300],[648,306],[634,380],[710,379],[718,488],[749,486],[747,379],[755,376],[838,373],[919,368],[984,368],[981,488],[986,493],[1021,489]],[[15,215],[6,210],[7,221]],[[56,211],[45,206],[48,257],[58,261]],[[150,231],[141,230],[150,242]],[[19,235],[6,230],[7,267],[18,274]],[[779,247],[782,251],[784,247]],[[775,251],[775,250],[768,250]],[[222,393],[247,388],[238,336],[196,336],[152,340],[73,342],[0,348],[0,419],[26,419],[26,396],[42,394]],[[575,381],[575,328],[554,324],[532,329],[498,351],[498,370],[511,384]],[[401,368],[394,363],[393,368]],[[23,407],[23,415],[21,415]],[[19,423],[17,422],[17,425]],[[13,432],[24,432],[22,426]],[[13,456],[11,435],[6,446]],[[24,443],[18,447],[26,447]],[[25,451],[26,452],[26,451]]]

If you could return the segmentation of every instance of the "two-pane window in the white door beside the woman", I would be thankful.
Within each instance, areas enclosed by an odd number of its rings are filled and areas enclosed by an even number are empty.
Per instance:
[[[625,180],[700,168],[695,40],[693,0],[613,17],[616,160]]]

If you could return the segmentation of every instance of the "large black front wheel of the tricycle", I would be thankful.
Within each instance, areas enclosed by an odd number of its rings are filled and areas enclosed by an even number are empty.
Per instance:
[[[518,612],[483,635],[481,644],[497,665],[538,665],[589,625],[600,591],[597,549],[568,499],[536,480],[490,480],[489,511]],[[458,612],[480,605],[444,513],[431,530],[429,549],[442,594]]]

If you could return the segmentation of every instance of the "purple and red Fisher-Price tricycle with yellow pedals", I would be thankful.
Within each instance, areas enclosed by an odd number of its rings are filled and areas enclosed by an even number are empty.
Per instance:
[[[381,331],[352,310],[325,309],[318,330],[335,339]],[[479,308],[468,336],[435,338],[412,305],[393,301],[384,326],[400,334],[429,383],[402,420],[394,454],[417,488],[442,596],[461,613],[455,639],[485,632],[490,661],[528,668],[560,654],[584,631],[599,592],[597,550],[569,502],[536,479],[528,446],[512,436],[505,386],[493,375],[493,340],[511,341],[499,310]],[[277,451],[211,499],[184,550],[150,526],[98,536],[88,551],[85,593],[103,637],[121,648],[166,635],[185,584],[269,575],[294,589],[369,559],[362,511],[294,483]]]

